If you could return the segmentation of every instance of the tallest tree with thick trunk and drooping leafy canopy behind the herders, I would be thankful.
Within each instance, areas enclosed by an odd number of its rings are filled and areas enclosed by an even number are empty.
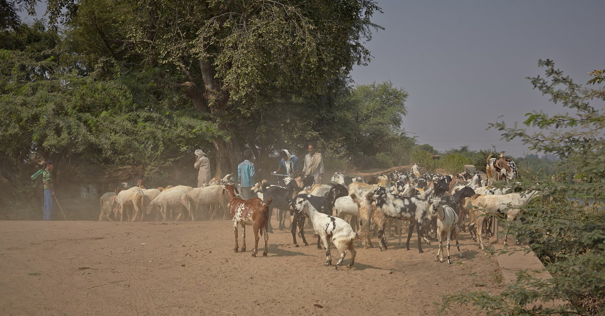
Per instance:
[[[362,44],[376,10],[366,0],[90,0],[71,26],[93,31],[95,45],[114,58],[180,78],[172,88],[227,132],[213,142],[221,175],[240,161],[240,135],[254,131],[243,123],[274,111],[272,100],[322,94],[367,62]]]

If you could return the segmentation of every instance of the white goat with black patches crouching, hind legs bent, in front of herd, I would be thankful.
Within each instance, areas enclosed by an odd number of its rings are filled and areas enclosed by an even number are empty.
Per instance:
[[[328,237],[332,238],[332,243],[336,249],[340,251],[341,257],[334,266],[334,269],[338,269],[341,265],[342,260],[347,254],[347,250],[351,253],[351,263],[347,265],[347,268],[353,268],[355,263],[355,248],[353,242],[355,239],[360,239],[358,234],[353,231],[351,225],[349,225],[344,219],[336,218],[319,211],[310,202],[313,198],[312,195],[299,194],[294,198],[293,208],[296,212],[306,212],[313,223],[313,230],[319,235],[322,243],[325,247],[325,265],[332,265],[332,256],[330,255],[330,241]]]

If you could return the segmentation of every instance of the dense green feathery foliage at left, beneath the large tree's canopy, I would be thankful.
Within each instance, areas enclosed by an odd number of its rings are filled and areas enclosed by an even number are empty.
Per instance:
[[[117,182],[116,167],[132,169],[121,176],[158,173],[223,135],[202,113],[175,107],[188,100],[161,88],[170,83],[154,69],[132,72],[101,60],[81,76],[62,65],[59,36],[40,22],[2,35],[0,184],[18,207],[33,203],[25,196],[38,185],[28,175],[45,159],[56,161],[57,183],[102,176]]]

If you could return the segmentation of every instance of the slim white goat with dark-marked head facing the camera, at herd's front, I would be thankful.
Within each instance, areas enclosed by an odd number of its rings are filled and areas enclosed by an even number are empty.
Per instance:
[[[435,261],[443,262],[443,239],[447,236],[447,249],[448,249],[448,263],[452,263],[450,260],[450,239],[454,237],[456,239],[456,248],[458,248],[458,255],[462,258],[460,253],[460,245],[458,243],[458,235],[460,234],[460,228],[458,227],[458,215],[449,205],[444,204],[440,198],[434,198],[433,202],[433,216],[437,216],[437,240],[439,240],[439,251]],[[439,257],[440,256],[440,257]]]

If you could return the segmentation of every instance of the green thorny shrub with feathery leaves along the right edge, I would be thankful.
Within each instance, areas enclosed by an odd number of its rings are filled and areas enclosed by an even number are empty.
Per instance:
[[[526,126],[539,127],[541,132],[529,135],[504,122],[491,124],[506,139],[521,138],[531,149],[555,153],[559,172],[545,177],[540,187],[548,192],[532,201],[524,213],[523,224],[512,223],[518,237],[527,240],[532,251],[542,260],[552,279],[538,280],[531,271],[517,274],[517,281],[499,295],[471,292],[445,297],[442,310],[454,304],[472,305],[477,314],[605,314],[605,89],[577,85],[551,60],[540,60],[546,67],[546,78],[528,78],[534,88],[551,96],[552,102],[574,109],[575,115],[544,113],[528,114]],[[547,81],[548,79],[548,81]],[[589,83],[601,83],[592,80]],[[558,86],[563,88],[559,89]],[[598,107],[590,105],[598,102]],[[556,127],[568,127],[555,129]],[[565,170],[575,170],[575,180],[562,182]],[[539,175],[527,173],[535,182]],[[592,204],[575,201],[574,196],[592,197]],[[541,302],[552,302],[546,308]]]

